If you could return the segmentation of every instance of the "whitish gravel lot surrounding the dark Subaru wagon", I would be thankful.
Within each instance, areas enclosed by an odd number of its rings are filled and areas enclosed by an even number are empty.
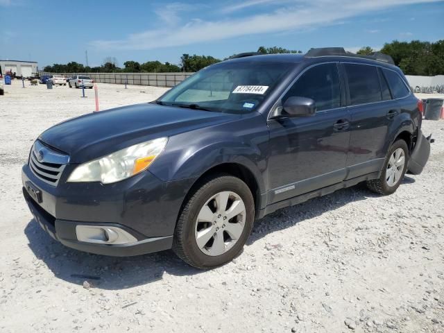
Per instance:
[[[162,92],[99,84],[102,110]],[[424,121],[427,169],[392,196],[358,185],[280,210],[234,262],[197,271],[171,251],[69,250],[33,221],[22,164],[45,128],[94,110],[86,93],[0,96],[1,332],[444,332],[444,121]]]

